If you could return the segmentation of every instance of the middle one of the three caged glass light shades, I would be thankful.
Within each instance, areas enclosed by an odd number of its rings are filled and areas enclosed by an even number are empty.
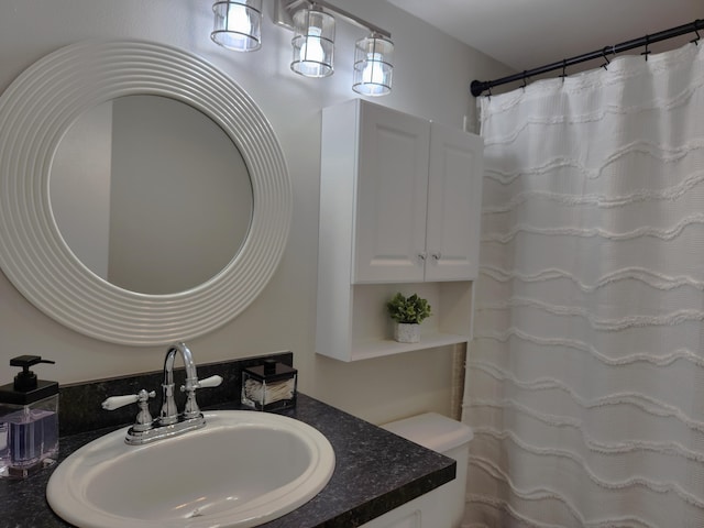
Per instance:
[[[290,69],[305,77],[328,77],[333,72],[334,19],[312,9],[294,13],[295,36],[290,41]]]

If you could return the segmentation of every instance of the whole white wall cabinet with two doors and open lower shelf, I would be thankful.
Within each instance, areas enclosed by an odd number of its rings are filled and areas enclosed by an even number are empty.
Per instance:
[[[323,109],[321,144],[317,352],[353,361],[468,341],[482,139],[356,99]],[[396,292],[433,307],[421,343],[391,338]]]

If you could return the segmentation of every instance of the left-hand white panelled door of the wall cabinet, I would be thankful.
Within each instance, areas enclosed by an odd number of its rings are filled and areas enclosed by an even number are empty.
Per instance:
[[[420,282],[430,122],[375,105],[360,108],[353,280]]]

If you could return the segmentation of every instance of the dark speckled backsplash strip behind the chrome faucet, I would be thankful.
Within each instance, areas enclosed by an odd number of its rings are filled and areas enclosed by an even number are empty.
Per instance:
[[[200,380],[216,374],[222,376],[222,384],[219,387],[202,388],[197,392],[198,405],[201,408],[207,408],[227,402],[238,402],[242,387],[242,370],[256,366],[265,359],[273,359],[285,365],[294,366],[294,354],[292,352],[197,364]],[[184,377],[183,366],[174,370],[174,381],[177,387],[184,383]],[[59,435],[63,437],[134,422],[138,413],[136,405],[127,405],[116,410],[103,410],[101,404],[110,396],[136,394],[143,388],[156,392],[156,397],[150,402],[150,410],[152,416],[158,416],[158,409],[162,405],[163,382],[164,373],[158,370],[131,376],[61,386],[58,393]],[[178,389],[176,391],[176,402],[178,408],[182,409],[185,395]]]

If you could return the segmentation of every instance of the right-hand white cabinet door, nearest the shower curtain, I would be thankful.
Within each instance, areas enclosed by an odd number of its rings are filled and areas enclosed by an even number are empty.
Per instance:
[[[432,123],[426,280],[468,280],[479,272],[482,138]]]

